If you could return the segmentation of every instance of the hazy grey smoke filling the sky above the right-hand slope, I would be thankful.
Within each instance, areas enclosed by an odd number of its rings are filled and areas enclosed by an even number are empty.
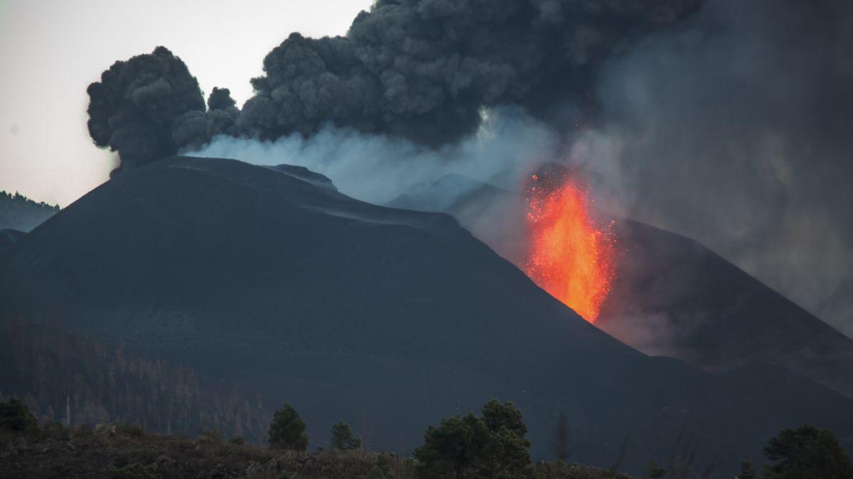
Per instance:
[[[718,0],[602,72],[570,158],[853,336],[853,3]]]

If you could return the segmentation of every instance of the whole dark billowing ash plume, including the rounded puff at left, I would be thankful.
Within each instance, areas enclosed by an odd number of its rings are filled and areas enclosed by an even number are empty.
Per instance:
[[[377,0],[345,37],[293,33],[273,49],[242,112],[216,91],[206,111],[187,67],[159,47],[90,85],[90,135],[128,168],[219,134],[269,140],[328,123],[438,147],[500,104],[572,124],[594,109],[602,61],[699,1]]]

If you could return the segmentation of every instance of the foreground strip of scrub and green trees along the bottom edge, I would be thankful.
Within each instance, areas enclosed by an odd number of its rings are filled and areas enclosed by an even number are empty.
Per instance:
[[[616,470],[566,465],[562,460],[531,465],[527,427],[511,402],[491,400],[480,415],[468,413],[429,426],[414,458],[363,450],[348,424],[332,426],[333,447],[306,451],[305,421],[290,405],[276,411],[270,447],[230,441],[218,429],[192,440],[161,436],[137,424],[119,422],[70,430],[61,423],[38,427],[24,401],[0,402],[0,470],[9,477],[105,476],[115,478],[213,477],[504,477],[525,479],[630,479]],[[828,430],[804,425],[782,430],[764,447],[770,464],[758,475],[741,462],[737,479],[850,479],[853,465]],[[707,477],[667,472],[655,461],[646,477]]]

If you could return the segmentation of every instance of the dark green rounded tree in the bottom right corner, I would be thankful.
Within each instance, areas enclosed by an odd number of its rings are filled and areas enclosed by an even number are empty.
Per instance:
[[[766,479],[850,479],[853,465],[832,431],[808,424],[785,429],[764,447]]]

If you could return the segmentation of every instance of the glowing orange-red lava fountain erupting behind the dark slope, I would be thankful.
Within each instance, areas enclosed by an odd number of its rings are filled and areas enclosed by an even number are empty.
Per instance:
[[[583,182],[566,172],[533,175],[527,188],[525,273],[551,296],[595,322],[616,276],[612,222],[599,227]]]

